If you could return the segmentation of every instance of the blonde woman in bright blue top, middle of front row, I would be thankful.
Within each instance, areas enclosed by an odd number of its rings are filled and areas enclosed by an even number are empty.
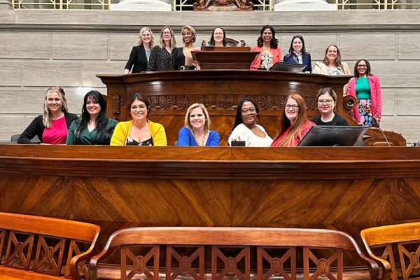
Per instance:
[[[178,146],[219,146],[220,137],[210,130],[209,112],[203,104],[195,103],[187,110],[184,127],[179,130]]]

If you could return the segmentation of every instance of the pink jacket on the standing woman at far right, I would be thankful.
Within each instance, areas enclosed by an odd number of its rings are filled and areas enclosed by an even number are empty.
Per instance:
[[[347,93],[354,98],[356,98],[356,80],[357,78],[351,78],[349,80],[349,87],[347,89]],[[382,114],[381,83],[379,82],[379,78],[374,75],[367,76],[367,80],[370,86],[370,101],[372,102],[372,116],[381,118],[381,114]],[[353,108],[353,119],[355,119],[357,123],[360,123],[360,115],[358,113],[357,104]]]

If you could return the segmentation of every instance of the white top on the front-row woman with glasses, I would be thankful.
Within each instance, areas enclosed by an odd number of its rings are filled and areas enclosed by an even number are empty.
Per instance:
[[[251,130],[246,127],[243,123],[239,124],[235,127],[235,130],[232,131],[229,137],[229,146],[231,146],[231,142],[233,139],[237,141],[245,141],[246,147],[269,147],[273,139],[268,136],[267,132],[265,132],[264,127],[261,125],[257,125],[257,127],[265,133],[265,137],[258,137],[257,135],[253,134]]]

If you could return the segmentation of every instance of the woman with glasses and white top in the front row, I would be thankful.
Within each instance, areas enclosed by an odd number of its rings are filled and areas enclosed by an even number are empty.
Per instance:
[[[245,141],[247,147],[269,147],[272,144],[271,137],[265,132],[264,127],[257,125],[260,121],[260,110],[252,99],[242,99],[238,104],[235,124],[228,139],[229,145],[232,141]]]

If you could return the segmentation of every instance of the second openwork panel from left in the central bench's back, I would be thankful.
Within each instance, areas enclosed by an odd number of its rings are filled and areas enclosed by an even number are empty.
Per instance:
[[[169,280],[174,280],[178,276],[190,276],[195,280],[204,280],[204,246],[194,246],[197,248],[193,254],[179,255],[176,251],[178,246],[167,246],[166,255],[166,274]],[[182,246],[181,248],[186,248]],[[172,264],[172,258],[178,262],[178,267],[174,267]],[[198,259],[198,267],[193,267],[193,262]],[[173,269],[175,270],[173,271]]]

